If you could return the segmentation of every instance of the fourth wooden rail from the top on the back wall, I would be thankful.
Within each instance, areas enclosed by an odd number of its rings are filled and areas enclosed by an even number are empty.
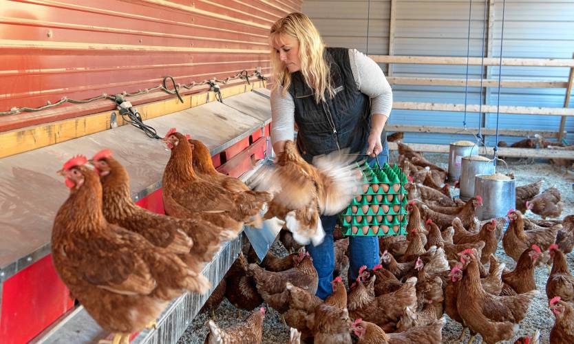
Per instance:
[[[433,126],[426,126],[426,125],[385,125],[386,131],[404,131],[407,133],[457,133],[460,135],[472,135],[477,134],[478,129],[476,128],[467,128],[464,130],[462,127],[433,127]],[[482,135],[494,135],[496,133],[496,129],[490,128],[482,128]],[[534,134],[538,133],[538,135],[544,138],[557,138],[558,133],[556,131],[549,131],[549,130],[542,130],[542,131],[535,131],[535,130],[516,130],[516,129],[503,129],[498,130],[498,134],[501,136],[519,136],[519,137],[527,137],[527,136],[534,136]]]

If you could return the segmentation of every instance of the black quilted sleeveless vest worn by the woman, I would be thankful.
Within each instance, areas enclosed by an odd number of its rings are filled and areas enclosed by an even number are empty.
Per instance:
[[[350,148],[364,154],[371,130],[370,98],[354,82],[346,48],[328,47],[325,52],[330,66],[334,96],[317,104],[314,90],[308,87],[301,72],[291,74],[288,92],[295,102],[297,147],[307,162],[315,155]],[[387,136],[381,134],[383,147]],[[361,160],[359,156],[357,160]]]

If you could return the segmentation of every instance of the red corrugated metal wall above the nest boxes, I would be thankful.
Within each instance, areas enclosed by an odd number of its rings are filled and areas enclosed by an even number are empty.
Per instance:
[[[268,28],[300,8],[299,0],[1,0],[0,111],[136,92],[166,75],[190,83],[257,67],[268,74]],[[1,116],[0,131],[25,115]]]

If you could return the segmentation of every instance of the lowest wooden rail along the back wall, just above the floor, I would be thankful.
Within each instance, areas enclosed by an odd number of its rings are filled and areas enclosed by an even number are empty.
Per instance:
[[[422,151],[428,153],[448,153],[448,144],[424,144],[424,143],[409,143],[411,149],[415,151]],[[392,151],[398,150],[396,142],[389,142],[389,149]],[[492,147],[479,147],[480,155],[493,156],[494,151]],[[557,149],[527,149],[527,148],[509,148],[500,147],[498,149],[498,156],[509,158],[548,158],[548,159],[573,159],[574,151],[562,151]]]

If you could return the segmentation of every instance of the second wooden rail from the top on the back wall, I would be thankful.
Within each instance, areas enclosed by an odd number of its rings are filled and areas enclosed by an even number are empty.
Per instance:
[[[436,86],[464,86],[465,79],[460,78],[419,78],[407,76],[389,76],[391,85],[436,85]],[[480,79],[469,79],[469,87],[480,87]],[[498,87],[498,79],[483,79],[482,87]],[[558,80],[502,80],[500,87],[513,88],[566,88],[566,81]]]

